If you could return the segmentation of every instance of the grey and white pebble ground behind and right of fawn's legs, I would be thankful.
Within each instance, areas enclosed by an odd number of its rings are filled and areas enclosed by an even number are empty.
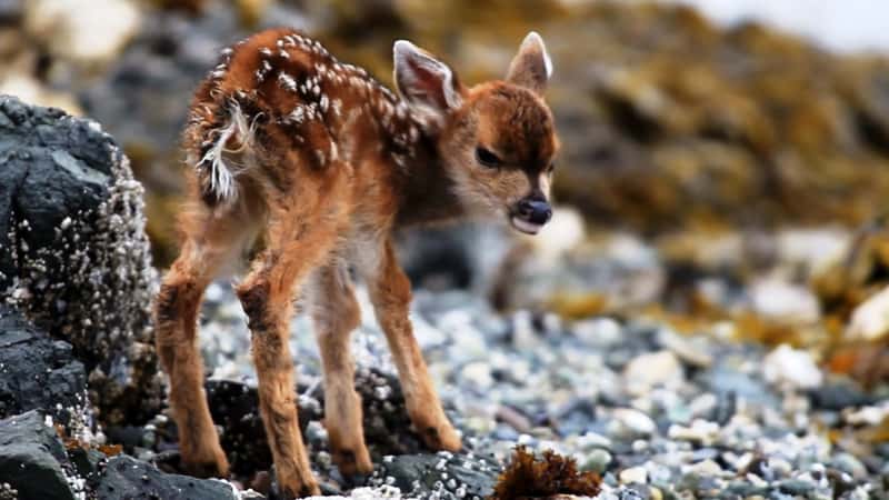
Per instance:
[[[358,384],[366,408],[374,396],[384,407],[397,391],[394,370],[360,297]],[[889,414],[889,388],[865,391],[822,372],[805,351],[729,340],[731,323],[703,336],[655,320],[567,323],[528,311],[501,316],[472,294],[423,290],[412,320],[467,456],[487,458],[493,472],[520,443],[600,472],[600,499],[887,498],[889,444],[875,444],[862,428]],[[293,331],[300,406],[312,418],[320,408],[318,351],[306,318]],[[211,287],[202,342],[212,379],[254,383],[248,338],[228,287]],[[380,410],[386,419],[387,411],[393,409]],[[332,491],[362,486],[343,483],[330,468],[320,422],[307,429],[313,463]],[[354,489],[351,498],[467,496],[453,480],[393,488],[387,451],[422,450],[410,437],[396,446],[368,434],[378,472],[363,486],[383,488]]]

